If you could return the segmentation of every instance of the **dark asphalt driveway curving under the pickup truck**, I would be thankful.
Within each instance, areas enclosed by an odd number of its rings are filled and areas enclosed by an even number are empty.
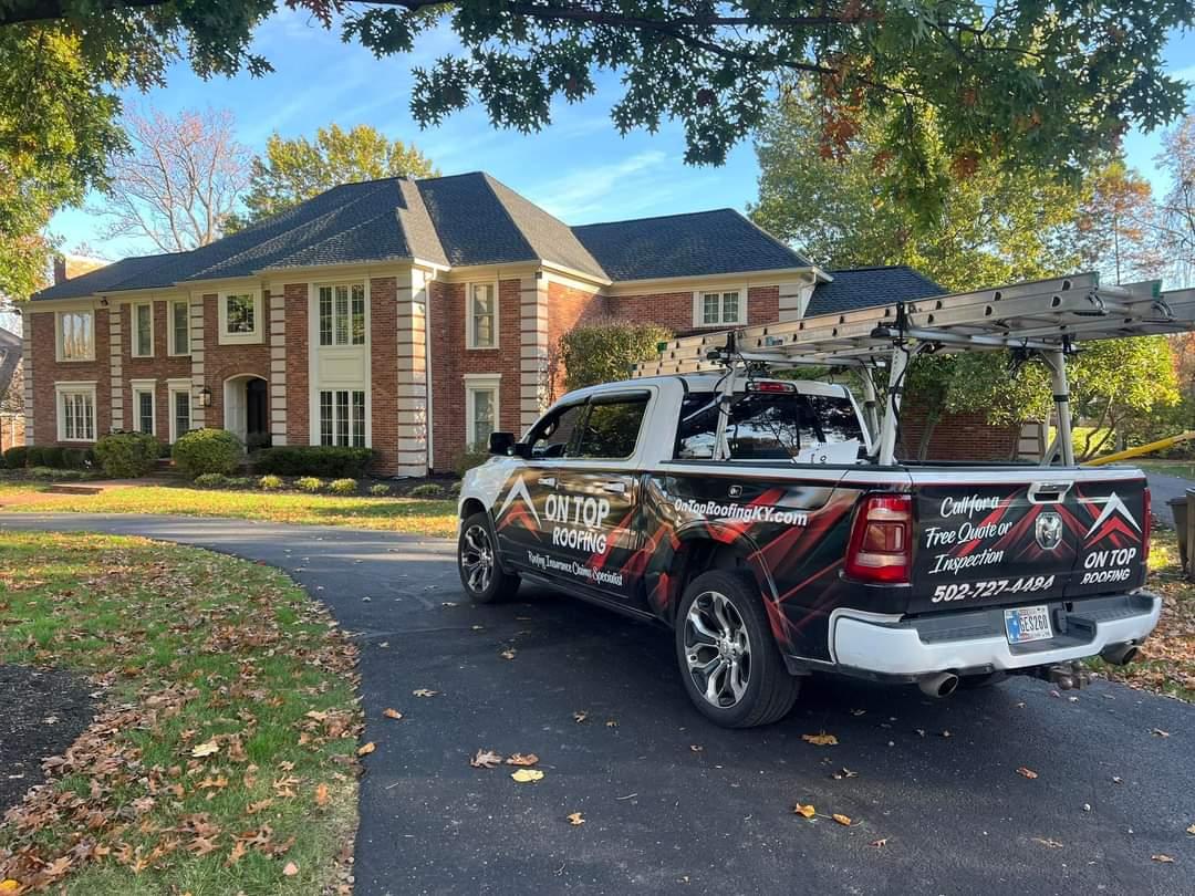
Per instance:
[[[783,723],[723,731],[690,708],[663,630],[543,591],[473,607],[445,541],[172,517],[0,528],[269,563],[358,633],[378,744],[358,894],[1195,892],[1195,711],[1173,700],[1013,680],[931,701],[815,681]],[[838,745],[802,739],[821,731]],[[535,753],[546,775],[471,768],[479,748]]]

